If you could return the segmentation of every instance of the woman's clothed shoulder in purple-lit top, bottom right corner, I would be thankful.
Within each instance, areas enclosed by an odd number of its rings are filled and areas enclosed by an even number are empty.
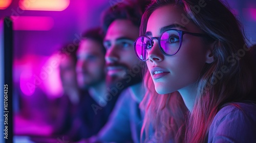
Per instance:
[[[210,125],[208,142],[250,142],[256,140],[256,104],[225,104]]]

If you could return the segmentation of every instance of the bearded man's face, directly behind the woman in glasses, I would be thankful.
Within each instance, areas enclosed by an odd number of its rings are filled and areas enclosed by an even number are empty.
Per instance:
[[[139,28],[130,20],[115,20],[111,23],[104,39],[109,76],[122,78],[127,74],[127,70],[132,71],[132,68],[138,65],[139,60],[133,48],[138,36]]]

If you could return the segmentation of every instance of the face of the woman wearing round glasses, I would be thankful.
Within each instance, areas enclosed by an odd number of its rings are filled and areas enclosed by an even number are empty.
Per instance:
[[[186,18],[183,9],[173,5],[160,7],[151,14],[147,22],[146,36],[160,37],[166,29],[202,33],[200,28]],[[184,34],[180,50],[173,56],[163,55],[158,41],[153,41],[154,45],[148,50],[146,63],[156,91],[164,94],[193,87],[210,51],[202,37]]]

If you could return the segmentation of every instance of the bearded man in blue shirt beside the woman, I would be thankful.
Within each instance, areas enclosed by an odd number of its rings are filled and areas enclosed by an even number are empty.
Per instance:
[[[110,120],[99,134],[84,142],[140,142],[143,112],[139,103],[144,96],[141,85],[144,63],[136,57],[133,43],[139,36],[140,19],[147,3],[123,2],[103,13],[108,76],[129,88],[120,94]]]

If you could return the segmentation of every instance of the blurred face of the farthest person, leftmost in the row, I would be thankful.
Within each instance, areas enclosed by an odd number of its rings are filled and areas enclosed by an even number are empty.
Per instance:
[[[64,90],[76,86],[75,61],[69,56],[63,58],[59,64],[60,79]]]

